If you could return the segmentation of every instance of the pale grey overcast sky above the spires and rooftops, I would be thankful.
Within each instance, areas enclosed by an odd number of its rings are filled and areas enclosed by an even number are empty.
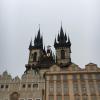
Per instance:
[[[100,66],[100,0],[0,0],[0,73],[22,75],[39,24],[52,46],[61,27],[72,42],[72,62]]]

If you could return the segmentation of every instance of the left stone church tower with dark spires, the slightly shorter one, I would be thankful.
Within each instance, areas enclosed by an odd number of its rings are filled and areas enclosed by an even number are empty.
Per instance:
[[[34,39],[34,46],[32,45],[32,40],[29,45],[29,64],[36,65],[40,61],[40,57],[43,51],[43,38],[40,35],[40,28],[38,30],[38,34]]]

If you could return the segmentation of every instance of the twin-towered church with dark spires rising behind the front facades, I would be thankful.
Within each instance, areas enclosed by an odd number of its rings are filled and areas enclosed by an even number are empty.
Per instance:
[[[69,36],[67,37],[61,26],[60,33],[54,40],[54,48],[56,53],[52,53],[50,46],[43,47],[43,37],[40,33],[34,39],[34,45],[32,41],[29,45],[29,61],[26,65],[26,71],[32,69],[49,68],[53,64],[57,64],[60,67],[67,67],[71,64],[71,42]]]

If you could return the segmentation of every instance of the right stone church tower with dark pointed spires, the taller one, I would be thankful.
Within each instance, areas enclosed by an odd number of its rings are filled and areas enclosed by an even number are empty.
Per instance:
[[[64,34],[63,28],[60,28],[57,39],[55,38],[54,47],[56,49],[56,63],[67,65],[71,63],[71,42],[69,36]]]

